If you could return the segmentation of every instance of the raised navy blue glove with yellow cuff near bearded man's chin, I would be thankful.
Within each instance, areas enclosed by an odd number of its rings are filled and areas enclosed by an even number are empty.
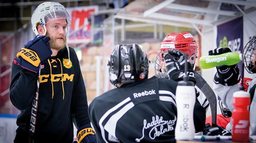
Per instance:
[[[14,63],[37,73],[40,68],[39,63],[47,60],[53,53],[48,42],[49,40],[49,37],[37,35],[24,48],[21,48],[17,58],[14,58]]]

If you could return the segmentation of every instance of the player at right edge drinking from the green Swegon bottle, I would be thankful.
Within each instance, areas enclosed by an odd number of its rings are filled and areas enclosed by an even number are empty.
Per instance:
[[[209,55],[219,55],[223,53],[231,52],[229,48],[215,48],[209,51]],[[243,62],[244,67],[248,73],[256,73],[256,38],[252,38],[243,50]],[[240,71],[237,67],[237,64],[232,66],[221,65],[217,67],[217,72],[213,79],[214,82],[214,90],[221,98],[222,102],[228,109],[232,112],[234,110],[233,106],[233,93],[235,91],[240,90]],[[251,95],[251,106],[250,111],[256,109],[256,98],[254,95],[256,87],[256,78],[254,78],[247,92]],[[256,114],[254,112],[250,112],[250,135],[256,135]],[[227,130],[231,130],[231,124],[226,127]]]

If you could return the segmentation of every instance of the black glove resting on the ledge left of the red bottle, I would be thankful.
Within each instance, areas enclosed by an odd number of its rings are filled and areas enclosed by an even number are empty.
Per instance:
[[[220,126],[213,127],[207,123],[203,129],[203,135],[231,135],[231,132]]]

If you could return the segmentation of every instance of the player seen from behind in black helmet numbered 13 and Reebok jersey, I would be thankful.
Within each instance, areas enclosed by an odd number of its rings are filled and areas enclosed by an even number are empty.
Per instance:
[[[176,49],[175,49],[176,50]],[[184,62],[181,51],[175,63]],[[172,54],[172,53],[171,53]],[[169,54],[170,55],[170,54]],[[172,55],[167,57],[172,61]],[[176,78],[155,76],[148,79],[149,61],[138,44],[117,45],[108,58],[110,82],[117,88],[96,97],[89,106],[89,116],[97,133],[97,142],[175,142],[177,108]],[[188,69],[193,72],[191,66]],[[189,78],[195,82],[195,77]],[[196,131],[205,126],[205,109],[196,100]]]

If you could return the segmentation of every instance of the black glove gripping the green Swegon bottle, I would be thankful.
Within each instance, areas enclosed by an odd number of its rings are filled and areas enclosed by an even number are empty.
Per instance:
[[[220,55],[231,52],[230,48],[216,48],[209,51],[209,55]],[[232,86],[240,82],[240,72],[237,64],[232,66],[221,65],[216,67],[217,72],[214,75],[213,82],[225,86]]]

